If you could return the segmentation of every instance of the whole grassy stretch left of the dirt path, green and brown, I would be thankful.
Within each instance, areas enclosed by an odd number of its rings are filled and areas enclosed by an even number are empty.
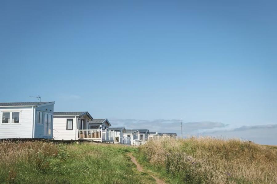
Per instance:
[[[155,183],[126,156],[135,150],[94,143],[0,143],[0,183]]]

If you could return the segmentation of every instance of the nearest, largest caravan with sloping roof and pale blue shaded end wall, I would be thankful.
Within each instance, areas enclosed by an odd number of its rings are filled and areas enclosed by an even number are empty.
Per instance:
[[[53,138],[55,102],[0,103],[0,139]]]

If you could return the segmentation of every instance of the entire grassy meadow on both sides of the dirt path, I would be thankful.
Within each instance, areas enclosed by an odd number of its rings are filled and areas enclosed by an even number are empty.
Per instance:
[[[145,145],[0,142],[0,183],[276,183],[277,147],[238,139],[163,139]],[[133,154],[143,166],[139,172]]]

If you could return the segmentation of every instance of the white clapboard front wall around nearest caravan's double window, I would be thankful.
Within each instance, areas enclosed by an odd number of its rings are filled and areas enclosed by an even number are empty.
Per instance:
[[[6,107],[0,108],[0,123],[2,112],[20,111],[20,124],[0,124],[0,139],[32,138],[33,135],[33,109],[32,107]]]

